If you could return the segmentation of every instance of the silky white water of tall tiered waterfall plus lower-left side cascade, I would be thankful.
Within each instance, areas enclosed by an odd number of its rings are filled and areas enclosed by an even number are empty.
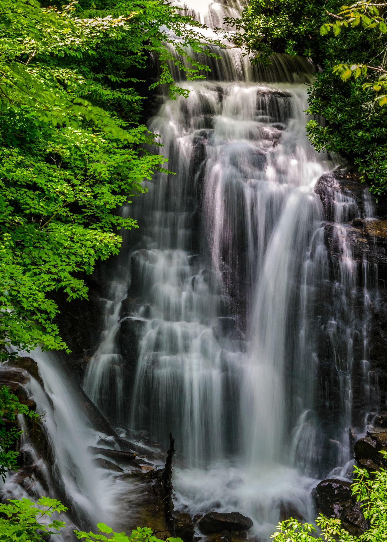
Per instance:
[[[190,9],[216,27],[241,7]],[[84,390],[113,423],[165,448],[172,431],[175,508],[238,510],[268,537],[281,507],[311,517],[318,478],[347,474],[349,429],[361,431],[377,401],[365,378],[376,274],[353,259],[347,237],[347,222],[373,210],[366,191],[362,209],[333,196],[332,267],[314,186],[334,164],[305,132],[312,67],[280,55],[251,67],[233,48],[221,56],[208,80],[181,81],[187,99],[161,96],[149,121],[175,175],[158,173],[123,209],[140,230],[111,273]],[[138,342],[132,354],[122,350],[128,337]],[[43,391],[30,393],[49,412],[56,476],[89,521],[114,521],[114,503],[138,489],[93,467],[87,447],[98,434],[66,419],[71,390],[55,364],[37,360],[54,410]]]

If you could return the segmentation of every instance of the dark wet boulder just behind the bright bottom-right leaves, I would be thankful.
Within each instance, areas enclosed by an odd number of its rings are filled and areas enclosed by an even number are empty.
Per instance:
[[[336,479],[323,480],[313,491],[318,512],[328,518],[342,521],[343,527],[355,536],[369,528],[360,503],[351,493],[351,482]]]

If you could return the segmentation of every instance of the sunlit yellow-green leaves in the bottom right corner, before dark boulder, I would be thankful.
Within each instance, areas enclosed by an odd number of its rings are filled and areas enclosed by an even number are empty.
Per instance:
[[[382,452],[387,455],[386,452]],[[382,542],[387,540],[387,471],[380,469],[372,476],[364,470],[355,468],[355,481],[351,487],[352,495],[362,502],[362,511],[370,527],[360,536],[349,534],[339,519],[324,518],[316,520],[317,529],[311,524],[302,524],[290,519],[281,522],[277,532],[272,535],[276,542]]]

